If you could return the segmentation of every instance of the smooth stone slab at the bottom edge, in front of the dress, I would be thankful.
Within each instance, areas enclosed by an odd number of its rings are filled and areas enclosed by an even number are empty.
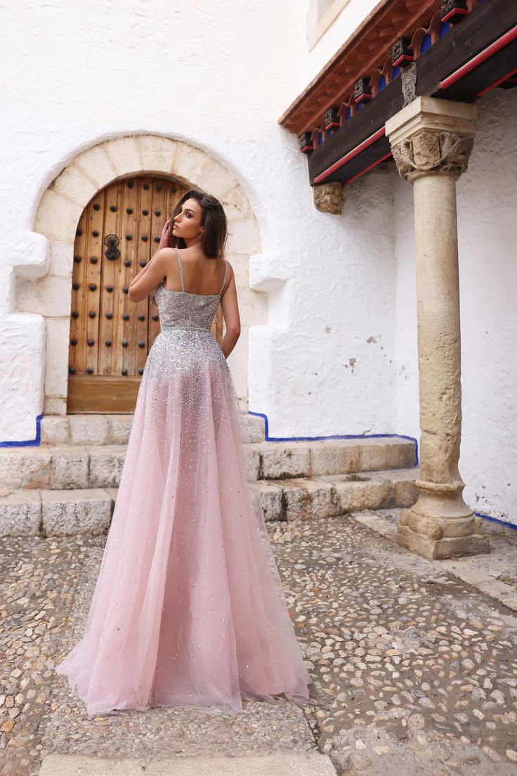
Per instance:
[[[40,776],[336,776],[329,757],[308,752],[262,757],[195,757],[191,760],[109,760],[50,754]]]

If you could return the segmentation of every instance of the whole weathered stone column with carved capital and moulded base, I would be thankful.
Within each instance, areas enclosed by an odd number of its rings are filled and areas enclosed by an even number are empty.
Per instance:
[[[398,543],[429,559],[488,553],[482,518],[465,504],[461,438],[456,181],[467,169],[479,110],[420,96],[386,122],[398,172],[413,185],[419,348],[419,497]]]

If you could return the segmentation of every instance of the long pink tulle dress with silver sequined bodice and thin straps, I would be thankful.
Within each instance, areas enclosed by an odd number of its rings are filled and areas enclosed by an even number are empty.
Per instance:
[[[136,399],[84,636],[56,667],[88,716],[242,699],[308,702],[246,425],[210,327],[217,294],[155,289],[160,334]]]

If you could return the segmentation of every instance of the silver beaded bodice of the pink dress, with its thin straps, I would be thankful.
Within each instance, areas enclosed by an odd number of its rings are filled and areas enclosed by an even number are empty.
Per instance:
[[[176,249],[178,251],[178,248]],[[167,329],[201,329],[210,331],[212,320],[221,301],[221,292],[226,283],[228,265],[225,259],[225,273],[219,293],[190,293],[184,290],[183,268],[178,251],[178,267],[180,269],[181,291],[166,289],[161,281],[154,292],[160,315],[160,328]]]

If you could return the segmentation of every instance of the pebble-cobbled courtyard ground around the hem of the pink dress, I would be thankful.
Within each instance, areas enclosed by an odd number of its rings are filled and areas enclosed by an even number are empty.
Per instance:
[[[0,774],[48,753],[320,751],[339,776],[517,773],[517,615],[354,515],[267,523],[311,674],[304,707],[243,702],[88,719],[53,671],[78,639],[105,537],[0,539]],[[486,525],[517,559],[517,532]],[[514,565],[515,568],[515,565]]]

